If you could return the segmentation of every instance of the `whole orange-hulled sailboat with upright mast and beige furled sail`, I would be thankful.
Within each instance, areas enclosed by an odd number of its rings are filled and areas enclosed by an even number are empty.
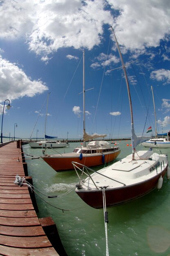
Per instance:
[[[85,131],[85,52],[83,51],[83,146],[74,148],[71,153],[56,155],[44,154],[42,159],[55,171],[67,171],[74,169],[72,162],[85,164],[88,167],[99,166],[112,162],[121,152],[119,144],[111,146],[104,141],[106,134],[89,135]],[[103,140],[94,140],[103,138]],[[89,143],[86,146],[86,141]]]

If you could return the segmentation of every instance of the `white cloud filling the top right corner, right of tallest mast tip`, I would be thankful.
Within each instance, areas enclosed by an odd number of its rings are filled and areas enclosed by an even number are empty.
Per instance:
[[[170,2],[159,0],[107,0],[120,15],[114,25],[129,49],[157,47],[166,33],[170,32]],[[159,24],[159,26],[158,26]],[[113,27],[114,27],[113,25]]]

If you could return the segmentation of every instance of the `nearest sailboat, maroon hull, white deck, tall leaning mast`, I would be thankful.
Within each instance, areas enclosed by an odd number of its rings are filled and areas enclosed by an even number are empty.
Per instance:
[[[121,58],[128,89],[132,154],[99,171],[94,171],[85,165],[73,162],[79,177],[79,183],[76,184],[75,191],[85,203],[96,209],[114,207],[139,198],[155,188],[161,189],[166,172],[167,178],[170,178],[167,155],[159,155],[152,150],[136,150],[136,146],[146,140],[146,137],[137,137],[134,132],[132,101],[126,67],[112,27],[111,30]],[[81,174],[79,171],[81,171]]]

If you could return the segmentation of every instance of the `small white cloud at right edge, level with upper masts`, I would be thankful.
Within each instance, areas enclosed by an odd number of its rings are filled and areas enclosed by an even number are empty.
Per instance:
[[[161,69],[152,71],[150,73],[150,78],[161,81],[165,85],[167,83],[170,83],[170,70]]]

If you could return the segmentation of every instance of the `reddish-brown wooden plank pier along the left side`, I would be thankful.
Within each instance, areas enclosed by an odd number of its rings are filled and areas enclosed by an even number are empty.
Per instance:
[[[27,176],[22,156],[16,141],[0,144],[0,255],[58,256],[40,224],[27,185],[14,184],[16,175]]]

